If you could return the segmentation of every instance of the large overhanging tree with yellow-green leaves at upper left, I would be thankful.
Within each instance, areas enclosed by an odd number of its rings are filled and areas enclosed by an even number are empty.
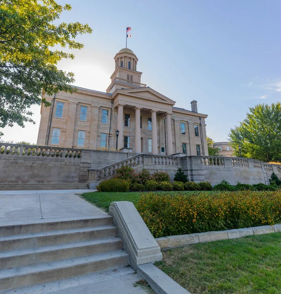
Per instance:
[[[55,0],[0,0],[0,127],[35,123],[30,106],[50,105],[42,93],[75,91],[69,85],[74,74],[57,69],[61,59],[74,55],[60,48],[82,49],[74,39],[92,29],[77,22],[57,24],[64,10],[71,6]]]

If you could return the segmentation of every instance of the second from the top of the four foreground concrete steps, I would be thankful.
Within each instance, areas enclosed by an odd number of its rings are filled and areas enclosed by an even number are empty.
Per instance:
[[[115,236],[117,236],[117,227],[114,225],[2,236],[0,237],[0,251],[59,245]]]

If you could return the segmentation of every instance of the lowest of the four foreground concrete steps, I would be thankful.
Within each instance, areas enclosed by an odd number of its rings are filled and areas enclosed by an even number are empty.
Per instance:
[[[128,254],[123,250],[118,250],[27,267],[4,269],[0,270],[0,291],[124,266],[128,263]]]

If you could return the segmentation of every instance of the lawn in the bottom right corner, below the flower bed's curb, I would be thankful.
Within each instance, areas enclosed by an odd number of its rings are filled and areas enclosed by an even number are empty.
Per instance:
[[[281,233],[165,250],[155,265],[192,294],[281,294]]]

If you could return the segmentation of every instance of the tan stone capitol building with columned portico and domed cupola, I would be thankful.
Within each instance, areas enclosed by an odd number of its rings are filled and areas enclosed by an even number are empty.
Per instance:
[[[106,92],[44,96],[37,145],[133,153],[208,155],[206,114],[175,107],[175,101],[141,83],[138,58],[128,48],[114,57]],[[118,131],[117,131],[118,130]],[[117,136],[118,135],[118,136]]]

